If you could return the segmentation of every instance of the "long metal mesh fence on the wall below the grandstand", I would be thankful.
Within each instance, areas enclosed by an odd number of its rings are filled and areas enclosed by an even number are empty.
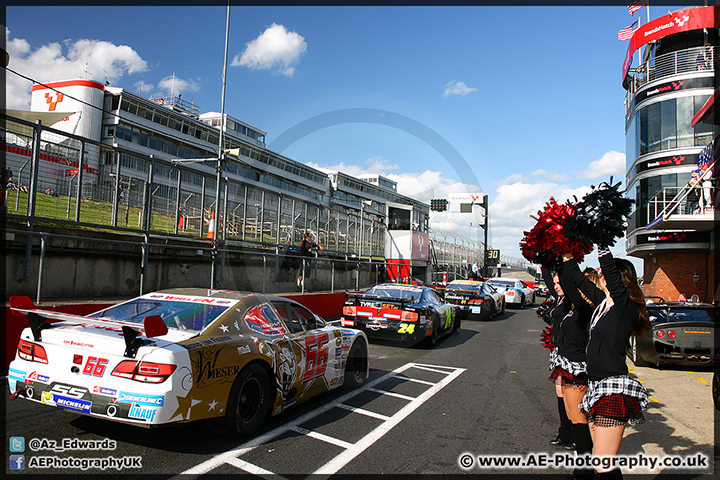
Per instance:
[[[86,226],[272,244],[299,244],[310,230],[326,250],[383,256],[381,218],[328,208],[241,179],[214,165],[191,168],[5,116],[9,215]],[[37,149],[37,165],[33,152]],[[219,207],[219,208],[218,208]],[[216,218],[217,216],[217,218]]]

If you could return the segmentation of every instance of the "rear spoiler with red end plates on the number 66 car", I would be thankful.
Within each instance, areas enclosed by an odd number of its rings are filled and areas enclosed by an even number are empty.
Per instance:
[[[159,337],[168,333],[167,325],[160,315],[149,315],[145,317],[142,324],[119,322],[106,318],[88,318],[82,315],[39,309],[30,297],[26,296],[10,297],[10,311],[15,316],[27,316],[36,342],[42,341],[40,332],[52,325],[52,323],[46,323],[47,320],[57,320],[75,325],[120,328],[125,339],[124,355],[129,358],[135,358],[138,348],[143,344],[143,340],[138,338],[141,333],[144,333],[146,338]]]

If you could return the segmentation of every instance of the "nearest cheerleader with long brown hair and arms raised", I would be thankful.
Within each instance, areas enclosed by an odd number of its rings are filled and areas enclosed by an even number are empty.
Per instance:
[[[588,327],[588,391],[579,408],[590,424],[593,455],[615,457],[627,423],[645,421],[642,410],[648,404],[647,390],[629,377],[625,346],[631,335],[642,335],[650,328],[647,307],[632,263],[614,259],[608,247],[598,246],[599,288],[579,268],[572,268],[571,254],[563,258],[571,267],[568,276],[597,305]],[[599,466],[596,470],[601,477],[622,478],[619,468]]]

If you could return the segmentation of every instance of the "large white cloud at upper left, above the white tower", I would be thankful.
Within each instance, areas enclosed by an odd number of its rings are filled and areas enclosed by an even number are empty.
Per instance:
[[[147,62],[127,45],[114,45],[101,40],[53,42],[37,49],[20,38],[10,38],[6,29],[6,49],[10,55],[8,68],[40,82],[71,78],[88,78],[113,84],[124,75],[144,72]],[[107,72],[107,73],[106,73]],[[5,76],[5,98],[8,108],[30,107],[32,82],[9,71]]]

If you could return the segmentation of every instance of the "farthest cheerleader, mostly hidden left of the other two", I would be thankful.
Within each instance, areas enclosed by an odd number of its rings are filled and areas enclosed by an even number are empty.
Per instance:
[[[557,274],[551,274],[550,270],[546,266],[541,266],[543,279],[545,285],[552,285],[552,289],[548,289],[550,295],[553,297],[552,305],[546,322],[550,325],[550,332],[553,337],[553,345],[557,345],[557,334],[560,331],[558,324],[565,317],[567,312],[570,310],[570,302],[565,302],[565,293],[560,286],[560,279]],[[550,352],[550,371],[553,371],[557,366],[557,347]],[[558,415],[560,416],[560,427],[558,428],[558,434],[554,440],[550,441],[550,445],[557,445],[564,447],[568,450],[575,448],[572,442],[572,422],[568,418],[567,409],[565,408],[565,401],[563,400],[562,385],[560,381],[555,382],[555,396],[557,397]]]

